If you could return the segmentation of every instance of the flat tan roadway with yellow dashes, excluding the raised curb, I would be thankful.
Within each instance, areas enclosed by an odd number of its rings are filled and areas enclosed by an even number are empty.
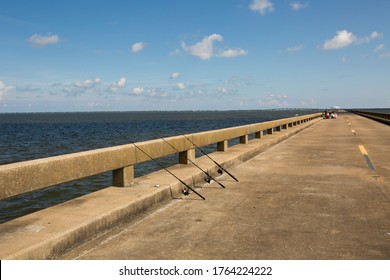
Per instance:
[[[229,171],[60,258],[390,259],[390,126],[340,114]]]

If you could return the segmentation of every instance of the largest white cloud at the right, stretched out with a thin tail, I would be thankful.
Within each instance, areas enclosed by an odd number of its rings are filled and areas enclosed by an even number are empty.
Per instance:
[[[323,50],[335,50],[347,47],[351,44],[368,44],[372,40],[376,40],[383,37],[382,33],[376,31],[372,32],[367,37],[356,37],[352,32],[347,30],[341,30],[336,32],[337,35],[330,40],[325,41],[322,46]]]

